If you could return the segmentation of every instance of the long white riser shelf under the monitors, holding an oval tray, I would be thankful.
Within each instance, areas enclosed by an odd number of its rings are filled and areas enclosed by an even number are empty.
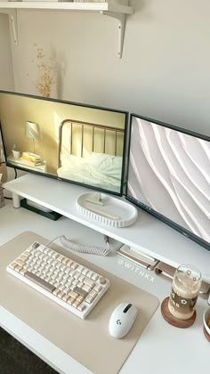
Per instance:
[[[42,175],[27,174],[4,183],[4,188],[12,192],[14,207],[20,207],[21,198],[30,199],[131,248],[139,248],[145,254],[171,266],[195,264],[202,272],[203,280],[210,281],[210,251],[141,209],[138,209],[138,218],[134,224],[117,228],[87,219],[78,211],[77,198],[83,193],[93,191],[85,187]],[[125,201],[124,198],[116,199]]]

